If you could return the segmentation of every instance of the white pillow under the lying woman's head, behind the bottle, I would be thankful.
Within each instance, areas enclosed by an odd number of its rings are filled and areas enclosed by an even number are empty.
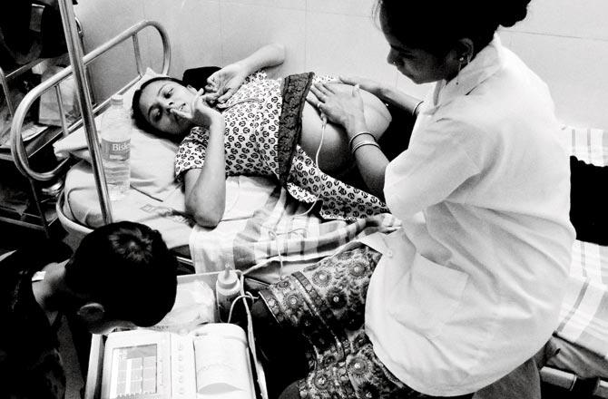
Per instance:
[[[142,79],[132,85],[123,94],[124,106],[131,109],[133,93],[142,83],[162,74],[155,73],[148,68]],[[101,116],[95,118],[98,132]],[[133,122],[131,135],[131,186],[135,190],[158,200],[166,199],[173,190],[179,187],[174,178],[174,160],[178,144],[166,139],[156,137],[137,128]],[[83,128],[64,139],[54,143],[54,152],[58,157],[65,157],[68,153],[75,157],[91,162],[86,144]]]

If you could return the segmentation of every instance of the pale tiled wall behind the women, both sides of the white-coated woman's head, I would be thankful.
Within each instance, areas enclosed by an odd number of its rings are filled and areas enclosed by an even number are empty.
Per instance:
[[[370,18],[373,0],[96,0],[83,1],[87,48],[141,19],[160,21],[172,40],[172,74],[223,65],[262,44],[288,49],[278,75],[315,71],[358,74],[422,96],[387,65],[388,46]],[[503,42],[547,82],[563,122],[608,129],[608,15],[606,0],[533,0],[529,18],[501,32]],[[157,53],[150,37],[145,54]],[[146,44],[148,44],[146,46]],[[126,50],[123,50],[126,51]],[[127,82],[133,63],[114,60],[93,67],[99,95]],[[117,61],[121,60],[121,61]],[[126,63],[123,65],[122,63]],[[117,78],[118,76],[118,78]]]

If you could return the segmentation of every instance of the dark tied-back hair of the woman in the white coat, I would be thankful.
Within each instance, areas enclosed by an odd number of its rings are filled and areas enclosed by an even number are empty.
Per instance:
[[[445,55],[469,38],[478,53],[499,26],[513,26],[527,15],[531,0],[377,0],[374,15],[402,44]]]

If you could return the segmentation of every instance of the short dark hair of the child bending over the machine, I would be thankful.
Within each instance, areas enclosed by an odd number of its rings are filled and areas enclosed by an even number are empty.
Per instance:
[[[102,304],[108,319],[153,326],[175,302],[176,268],[161,233],[121,221],[83,238],[65,266],[65,284],[85,301]]]

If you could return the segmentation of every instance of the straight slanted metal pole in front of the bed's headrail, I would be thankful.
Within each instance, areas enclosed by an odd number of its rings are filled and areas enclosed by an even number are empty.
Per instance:
[[[100,157],[101,151],[99,149],[99,142],[97,141],[97,129],[95,127],[91,105],[91,92],[89,91],[89,84],[86,80],[83,63],[83,48],[78,35],[72,0],[59,0],[59,9],[64,24],[65,42],[67,44],[68,53],[70,54],[70,62],[72,63],[72,68],[74,70],[74,79],[78,90],[78,101],[80,102],[80,109],[83,113],[84,131],[86,132],[86,141],[89,145],[89,151],[91,152],[93,174],[95,177],[97,194],[99,195],[99,204],[102,208],[103,221],[106,224],[112,223],[110,197],[108,195],[108,188],[105,184],[103,163]]]

